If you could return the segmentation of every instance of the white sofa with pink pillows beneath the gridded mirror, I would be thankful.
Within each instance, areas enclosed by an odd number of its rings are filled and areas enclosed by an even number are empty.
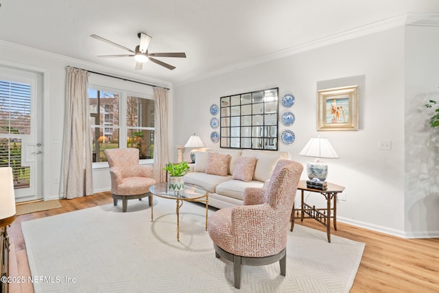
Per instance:
[[[211,154],[211,155],[209,155]],[[219,154],[215,155],[215,154]],[[228,159],[225,157],[228,156]],[[220,160],[218,160],[220,157]],[[239,159],[246,157],[246,159]],[[256,159],[254,159],[256,158]],[[209,161],[210,159],[210,161]],[[198,185],[209,192],[209,206],[223,209],[242,205],[242,196],[246,187],[264,187],[270,180],[274,166],[281,159],[289,159],[289,152],[276,152],[265,150],[210,150],[195,152],[195,163],[189,164],[191,172],[185,175],[185,183]],[[222,175],[217,174],[217,169],[212,168],[213,161],[218,163],[215,167],[224,167]],[[252,174],[246,176],[244,181],[241,174],[243,161],[256,161]],[[238,167],[237,167],[238,163]],[[250,174],[248,165],[246,174]]]

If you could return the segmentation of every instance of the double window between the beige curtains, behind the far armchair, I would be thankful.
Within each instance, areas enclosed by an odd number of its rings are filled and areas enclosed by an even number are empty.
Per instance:
[[[88,99],[93,162],[105,162],[104,150],[108,148],[138,148],[139,159],[152,159],[154,153],[152,97],[92,86],[88,89]]]

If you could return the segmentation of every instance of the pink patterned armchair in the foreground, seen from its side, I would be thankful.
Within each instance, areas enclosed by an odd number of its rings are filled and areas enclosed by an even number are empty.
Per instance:
[[[241,265],[279,261],[285,276],[287,232],[302,170],[300,163],[278,161],[267,189],[246,188],[244,206],[219,209],[209,218],[215,256],[233,261],[235,288],[241,288]]]

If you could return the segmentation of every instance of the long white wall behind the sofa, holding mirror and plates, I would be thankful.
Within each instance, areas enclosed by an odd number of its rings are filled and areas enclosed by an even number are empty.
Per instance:
[[[296,134],[292,145],[280,143],[279,150],[306,164],[298,156],[311,137],[317,137],[316,84],[364,75],[359,97],[359,131],[320,132],[327,137],[340,159],[327,159],[332,183],[346,187],[346,201],[338,202],[338,219],[394,235],[405,235],[404,210],[404,27],[344,40],[263,65],[174,86],[174,106],[181,119],[174,123],[174,145],[184,145],[196,132],[209,148],[211,104],[219,97],[278,86],[281,97],[293,93],[290,108],[296,123],[288,129]],[[324,82],[330,85],[331,82]],[[349,86],[351,84],[344,84]],[[340,86],[334,82],[333,86]],[[279,106],[280,114],[286,108]],[[177,115],[177,113],[175,113]],[[285,130],[279,126],[279,131]],[[380,140],[392,141],[392,150],[378,149]],[[185,152],[185,158],[188,154]],[[174,153],[174,158],[176,157]],[[302,178],[306,178],[302,174]],[[308,202],[324,205],[311,194]]]

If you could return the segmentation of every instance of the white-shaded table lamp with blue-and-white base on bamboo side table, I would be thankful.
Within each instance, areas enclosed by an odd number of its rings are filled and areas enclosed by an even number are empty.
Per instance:
[[[309,139],[305,148],[299,153],[300,156],[313,156],[315,161],[307,163],[308,178],[318,178],[321,181],[327,179],[328,176],[328,164],[319,160],[319,158],[340,158],[328,139],[312,138]]]

